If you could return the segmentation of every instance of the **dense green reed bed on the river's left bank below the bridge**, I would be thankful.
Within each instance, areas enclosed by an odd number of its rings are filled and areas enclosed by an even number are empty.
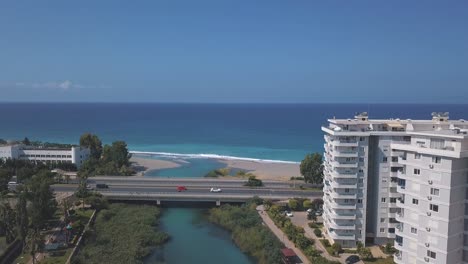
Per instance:
[[[154,206],[112,204],[98,213],[85,232],[73,263],[142,263],[169,236],[158,231],[160,210]]]

